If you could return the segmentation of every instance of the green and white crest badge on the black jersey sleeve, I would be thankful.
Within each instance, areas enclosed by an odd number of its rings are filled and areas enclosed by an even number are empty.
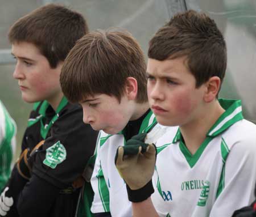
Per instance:
[[[46,159],[43,161],[48,167],[55,169],[57,164],[60,164],[66,159],[67,151],[60,141],[57,141],[53,146],[46,150]]]

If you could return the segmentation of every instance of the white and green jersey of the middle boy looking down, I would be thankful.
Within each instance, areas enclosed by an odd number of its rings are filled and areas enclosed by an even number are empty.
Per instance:
[[[139,133],[147,134],[147,138],[153,138],[159,129],[163,129],[156,123],[154,114],[150,111],[144,118]],[[91,184],[94,198],[91,211],[111,212],[112,217],[132,216],[131,202],[128,200],[125,181],[119,175],[115,167],[115,154],[118,146],[125,146],[126,141],[122,133],[110,135],[100,131],[100,139],[97,144],[97,157]]]

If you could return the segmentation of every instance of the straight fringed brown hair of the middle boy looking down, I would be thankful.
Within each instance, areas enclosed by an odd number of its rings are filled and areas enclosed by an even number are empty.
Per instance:
[[[120,101],[129,76],[138,83],[137,103],[147,101],[146,63],[138,42],[126,31],[95,31],[68,54],[60,84],[73,103],[101,93]]]

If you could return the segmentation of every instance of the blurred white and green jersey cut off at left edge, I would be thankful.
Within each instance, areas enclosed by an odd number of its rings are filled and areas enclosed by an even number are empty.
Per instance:
[[[9,179],[16,147],[16,124],[0,100],[0,192]]]

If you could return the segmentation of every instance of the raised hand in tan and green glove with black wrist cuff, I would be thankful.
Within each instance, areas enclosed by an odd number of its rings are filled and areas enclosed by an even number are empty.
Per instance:
[[[115,165],[125,180],[129,200],[141,202],[154,192],[151,178],[154,174],[156,147],[144,143],[146,134],[139,134],[119,146],[115,155]]]

